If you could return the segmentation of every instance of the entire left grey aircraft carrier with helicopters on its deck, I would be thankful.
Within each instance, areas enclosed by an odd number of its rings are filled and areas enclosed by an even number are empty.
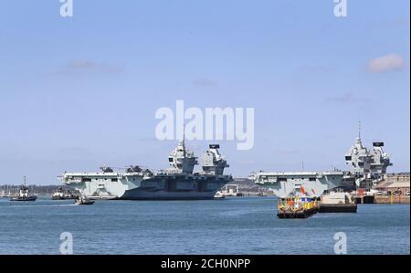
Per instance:
[[[209,145],[200,173],[194,173],[197,158],[183,140],[170,153],[170,168],[166,170],[153,172],[131,166],[125,172],[114,172],[104,167],[99,173],[63,173],[61,180],[92,199],[212,199],[222,186],[233,181],[231,175],[224,174],[229,165],[218,149],[217,144]]]

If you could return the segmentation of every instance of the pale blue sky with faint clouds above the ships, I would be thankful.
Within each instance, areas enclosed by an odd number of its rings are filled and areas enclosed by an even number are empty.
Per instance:
[[[348,170],[362,139],[410,166],[410,2],[0,0],[0,184],[105,164],[168,167],[156,110],[254,108],[226,173]],[[215,141],[216,142],[216,141]],[[207,141],[189,141],[200,156]]]

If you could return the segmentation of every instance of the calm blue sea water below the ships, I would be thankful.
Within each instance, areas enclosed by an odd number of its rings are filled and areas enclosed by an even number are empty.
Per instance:
[[[357,214],[278,219],[275,197],[208,201],[0,199],[0,254],[58,254],[62,232],[74,254],[410,254],[409,205],[359,205]]]

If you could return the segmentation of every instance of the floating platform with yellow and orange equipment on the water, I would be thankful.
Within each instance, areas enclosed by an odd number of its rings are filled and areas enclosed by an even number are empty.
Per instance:
[[[300,196],[279,198],[277,211],[279,219],[308,218],[317,212],[316,198]]]

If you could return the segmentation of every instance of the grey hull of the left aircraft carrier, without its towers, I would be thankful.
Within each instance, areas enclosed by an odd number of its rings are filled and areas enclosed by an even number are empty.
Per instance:
[[[201,200],[233,181],[230,175],[157,174],[152,177],[121,173],[76,173],[63,180],[90,199]]]

